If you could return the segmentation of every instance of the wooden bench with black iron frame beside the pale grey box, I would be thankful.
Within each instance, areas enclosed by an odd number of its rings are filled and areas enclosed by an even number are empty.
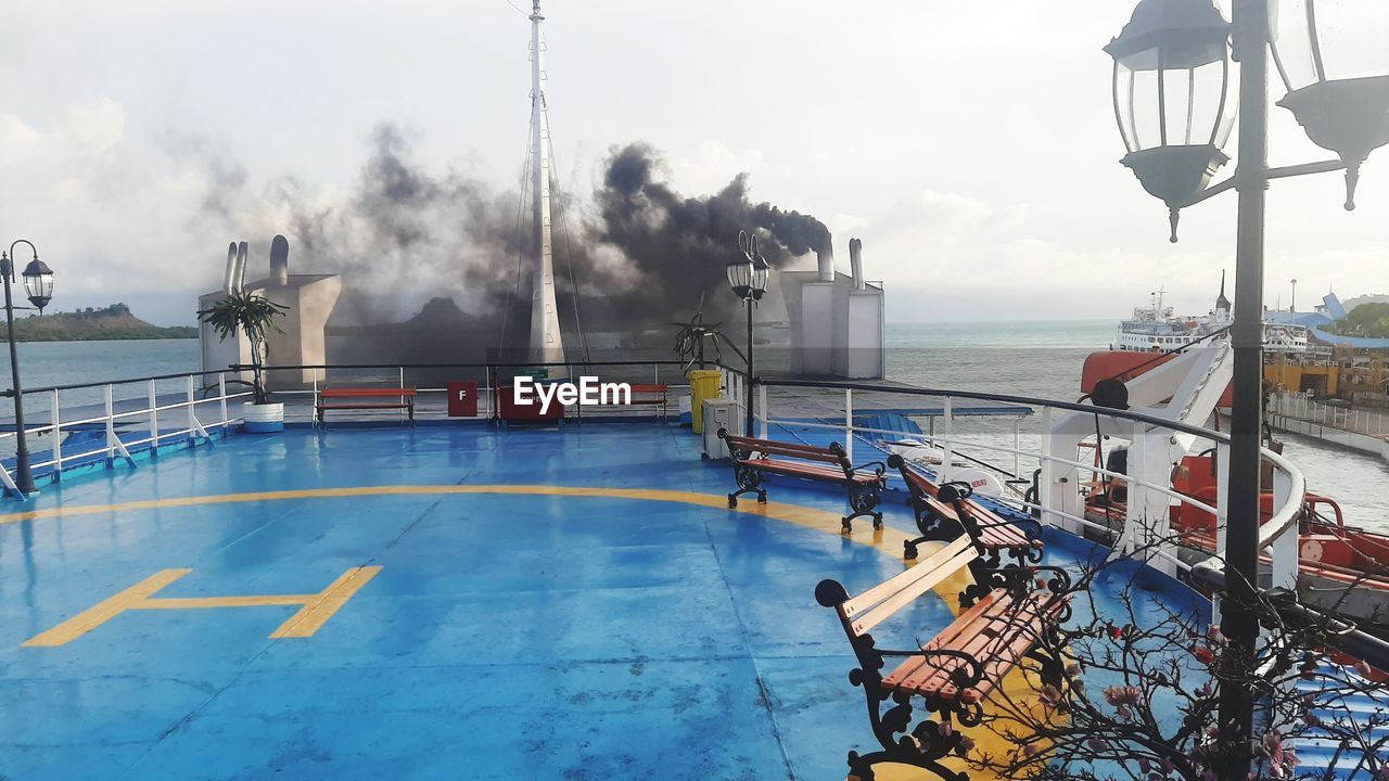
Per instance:
[[[882,528],[882,513],[874,511],[882,489],[888,485],[885,477],[888,467],[882,461],[856,467],[849,463],[849,456],[838,442],[829,447],[815,447],[797,442],[735,436],[724,428],[718,429],[718,438],[728,442],[728,452],[733,457],[733,481],[738,482],[738,491],[728,495],[729,507],[738,507],[738,498],[753,492],[757,493],[757,502],[765,504],[767,491],[761,486],[763,477],[765,472],[772,472],[843,485],[849,491],[849,507],[853,510],[843,518],[845,534],[853,531],[853,520],[860,516],[871,517],[872,528]]]

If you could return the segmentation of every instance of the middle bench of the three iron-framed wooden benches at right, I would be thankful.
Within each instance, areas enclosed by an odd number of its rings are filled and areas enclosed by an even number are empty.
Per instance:
[[[917,557],[917,546],[928,539],[949,541],[967,532],[970,528],[978,529],[981,553],[997,566],[997,559],[1007,552],[1018,561],[1042,560],[1042,524],[1036,520],[1011,521],[972,499],[974,491],[968,484],[950,482],[953,486],[945,498],[940,495],[942,486],[932,482],[926,475],[907,466],[901,456],[888,457],[888,466],[901,472],[901,479],[911,493],[908,503],[917,517],[917,529],[921,536],[903,543],[903,556]],[[963,518],[963,520],[961,520]]]

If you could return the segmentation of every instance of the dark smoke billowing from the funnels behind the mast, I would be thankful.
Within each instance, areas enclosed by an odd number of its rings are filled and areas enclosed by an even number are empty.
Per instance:
[[[575,331],[668,329],[692,314],[735,304],[725,265],[739,231],[756,229],[774,268],[829,253],[822,222],[750,199],[747,174],[714,195],[678,193],[660,153],[646,143],[614,146],[589,197],[557,189],[553,211],[561,325]],[[340,272],[339,332],[386,335],[399,349],[429,297],[431,329],[458,313],[467,345],[525,345],[531,313],[531,207],[521,190],[497,190],[460,171],[432,172],[411,153],[410,136],[379,126],[346,202],[315,207],[297,182],[281,183],[290,214],[290,271]],[[574,281],[571,283],[571,279]],[[576,288],[576,289],[575,289]],[[396,324],[396,325],[389,325]],[[421,322],[415,322],[421,325]],[[438,335],[429,349],[442,350]],[[421,347],[424,352],[424,347]],[[436,359],[440,356],[435,356]]]

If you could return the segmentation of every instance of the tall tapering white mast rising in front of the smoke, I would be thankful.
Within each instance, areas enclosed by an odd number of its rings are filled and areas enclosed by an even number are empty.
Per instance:
[[[554,303],[554,254],[550,243],[550,124],[544,103],[544,38],[540,0],[531,13],[531,192],[533,193],[532,253],[535,288],[531,297],[531,359],[564,361],[564,336]],[[551,368],[551,377],[563,374]]]

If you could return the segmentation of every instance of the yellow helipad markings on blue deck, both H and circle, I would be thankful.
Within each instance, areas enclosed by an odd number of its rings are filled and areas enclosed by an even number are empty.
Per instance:
[[[33,521],[44,518],[75,518],[81,516],[99,516],[107,513],[128,513],[136,510],[164,510],[176,507],[203,507],[215,504],[244,504],[254,502],[281,502],[293,499],[347,499],[347,498],[361,498],[361,496],[449,496],[449,495],[525,495],[525,496],[590,496],[601,499],[636,499],[649,502],[675,502],[683,504],[694,504],[700,507],[713,507],[718,510],[726,510],[731,513],[740,513],[746,516],[758,516],[765,518],[774,518],[778,521],[792,523],[800,527],[818,529],[822,532],[839,535],[840,534],[840,516],[831,513],[828,510],[815,510],[811,507],[803,507],[800,504],[788,504],[782,502],[768,502],[765,504],[758,504],[756,502],[740,502],[736,509],[728,507],[728,498],[714,493],[699,493],[693,491],[667,491],[656,488],[597,488],[597,486],[565,486],[565,485],[371,485],[371,486],[344,486],[344,488],[303,488],[293,491],[263,491],[263,492],[249,492],[249,493],[222,493],[211,496],[174,496],[165,499],[143,499],[138,502],[118,502],[110,504],[81,504],[74,507],[49,507],[43,510],[29,510],[25,513],[8,513],[0,516],[0,525],[15,524],[21,521]],[[853,535],[845,536],[846,541],[867,545],[881,550],[889,556],[901,556],[901,543],[908,539],[908,535],[897,529],[868,529],[865,520],[860,520],[858,531]],[[933,543],[924,543],[921,546],[921,554],[917,561],[928,557]],[[151,607],[151,603],[160,602],[183,602],[185,606],[197,607],[218,607],[218,606],[239,606],[244,605],[247,599],[299,599],[293,605],[304,605],[304,607],[285,621],[275,632],[272,638],[301,638],[314,634],[325,621],[328,621],[332,614],[342,607],[342,605],[351,598],[363,585],[367,584],[372,577],[381,571],[381,567],[360,567],[349,570],[340,578],[333,581],[326,589],[318,595],[303,595],[303,596],[243,596],[243,598],[199,598],[199,599],[168,599],[168,600],[151,600],[150,593],[154,593],[168,582],[183,577],[192,570],[164,570],[163,573],[131,586],[126,591],[101,602],[96,607],[92,607],[72,618],[58,624],[57,627],[36,635],[24,645],[26,646],[43,646],[43,645],[64,645],[72,638],[79,636],[92,628],[106,623],[114,614],[135,607]],[[176,573],[169,577],[171,573]],[[157,578],[168,578],[167,582],[158,582],[153,585]],[[942,584],[936,585],[936,593],[945,599],[946,605],[950,607],[951,613],[958,614],[960,592],[972,582],[967,571],[957,573],[951,578],[947,578]],[[310,600],[306,603],[306,600]],[[196,602],[197,605],[190,605]],[[217,602],[218,605],[214,605]],[[276,605],[279,605],[276,602]],[[174,607],[174,606],[169,606]],[[1032,688],[1032,684],[1026,681],[1022,674],[1021,667],[1014,668],[1008,675],[1004,677],[1001,688],[1014,693],[1014,696],[1022,696],[1022,692]],[[1004,752],[1013,750],[1013,743],[1004,739],[1001,735],[976,731],[974,735],[976,752],[992,753],[995,756],[1001,756]],[[847,749],[846,749],[847,750]],[[872,750],[871,745],[860,746],[860,750]],[[997,781],[993,774],[986,774],[978,770],[968,770],[963,760],[947,759],[943,762],[951,770],[967,770],[971,773],[974,781]],[[876,775],[881,781],[918,781],[918,780],[933,780],[935,777],[914,767],[882,764],[876,768]]]

